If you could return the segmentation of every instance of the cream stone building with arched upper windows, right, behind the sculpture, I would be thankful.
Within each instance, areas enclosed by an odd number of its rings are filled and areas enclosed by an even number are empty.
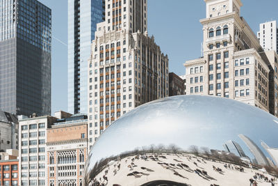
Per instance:
[[[205,0],[204,56],[186,61],[186,95],[216,95],[274,114],[273,68],[240,17],[240,0]],[[273,62],[274,63],[274,62]],[[276,114],[277,115],[277,114]]]

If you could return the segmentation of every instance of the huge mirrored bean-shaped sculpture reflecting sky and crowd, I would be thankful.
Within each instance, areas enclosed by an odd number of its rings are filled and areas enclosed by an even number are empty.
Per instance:
[[[143,104],[109,126],[84,185],[277,183],[278,118],[248,104],[181,95]],[[277,160],[277,159],[276,159]]]

